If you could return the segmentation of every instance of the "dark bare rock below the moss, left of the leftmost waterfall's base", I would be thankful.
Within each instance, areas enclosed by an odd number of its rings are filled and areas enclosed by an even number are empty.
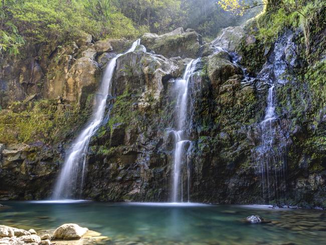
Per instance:
[[[0,198],[30,200],[49,196],[61,158],[59,149],[41,142],[6,147],[0,160]]]

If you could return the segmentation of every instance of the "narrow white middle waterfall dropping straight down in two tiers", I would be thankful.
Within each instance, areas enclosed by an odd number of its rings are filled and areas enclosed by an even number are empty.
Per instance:
[[[186,145],[190,143],[187,140],[186,128],[187,128],[187,104],[188,104],[188,87],[189,81],[191,80],[196,65],[200,59],[194,59],[190,61],[186,67],[184,76],[182,79],[176,80],[175,89],[177,91],[177,130],[174,131],[176,145],[174,154],[174,164],[173,164],[173,185],[172,185],[172,201],[178,202],[183,201],[183,184],[182,184],[182,167],[185,163],[186,157]],[[189,168],[188,168],[189,169]],[[189,201],[189,170],[188,174],[188,201]],[[181,198],[179,197],[181,195]]]

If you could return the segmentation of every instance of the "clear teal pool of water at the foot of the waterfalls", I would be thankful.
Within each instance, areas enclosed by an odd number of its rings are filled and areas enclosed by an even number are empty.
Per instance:
[[[1,202],[0,224],[36,230],[77,223],[108,244],[324,244],[326,212],[171,203]],[[257,214],[264,224],[247,224]],[[292,242],[292,243],[290,243]]]

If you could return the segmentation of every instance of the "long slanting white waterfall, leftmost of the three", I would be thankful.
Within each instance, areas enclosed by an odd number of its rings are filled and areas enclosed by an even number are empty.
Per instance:
[[[125,53],[134,51],[139,43],[140,39],[136,40],[132,44],[131,48]],[[123,54],[118,54],[113,59],[111,59],[105,68],[101,85],[98,90],[99,101],[96,103],[93,115],[86,128],[82,130],[80,135],[72,144],[70,153],[66,158],[63,169],[61,169],[57,179],[53,193],[53,199],[72,198],[76,193],[81,195],[84,184],[86,155],[89,141],[102,123],[106,109],[106,100],[111,91],[111,81],[116,66],[116,60],[121,55]]]

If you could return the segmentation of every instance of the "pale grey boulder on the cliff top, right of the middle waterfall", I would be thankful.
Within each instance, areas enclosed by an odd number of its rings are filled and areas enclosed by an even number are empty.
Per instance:
[[[228,27],[222,29],[212,44],[221,47],[227,51],[234,52],[244,36],[242,26]]]

